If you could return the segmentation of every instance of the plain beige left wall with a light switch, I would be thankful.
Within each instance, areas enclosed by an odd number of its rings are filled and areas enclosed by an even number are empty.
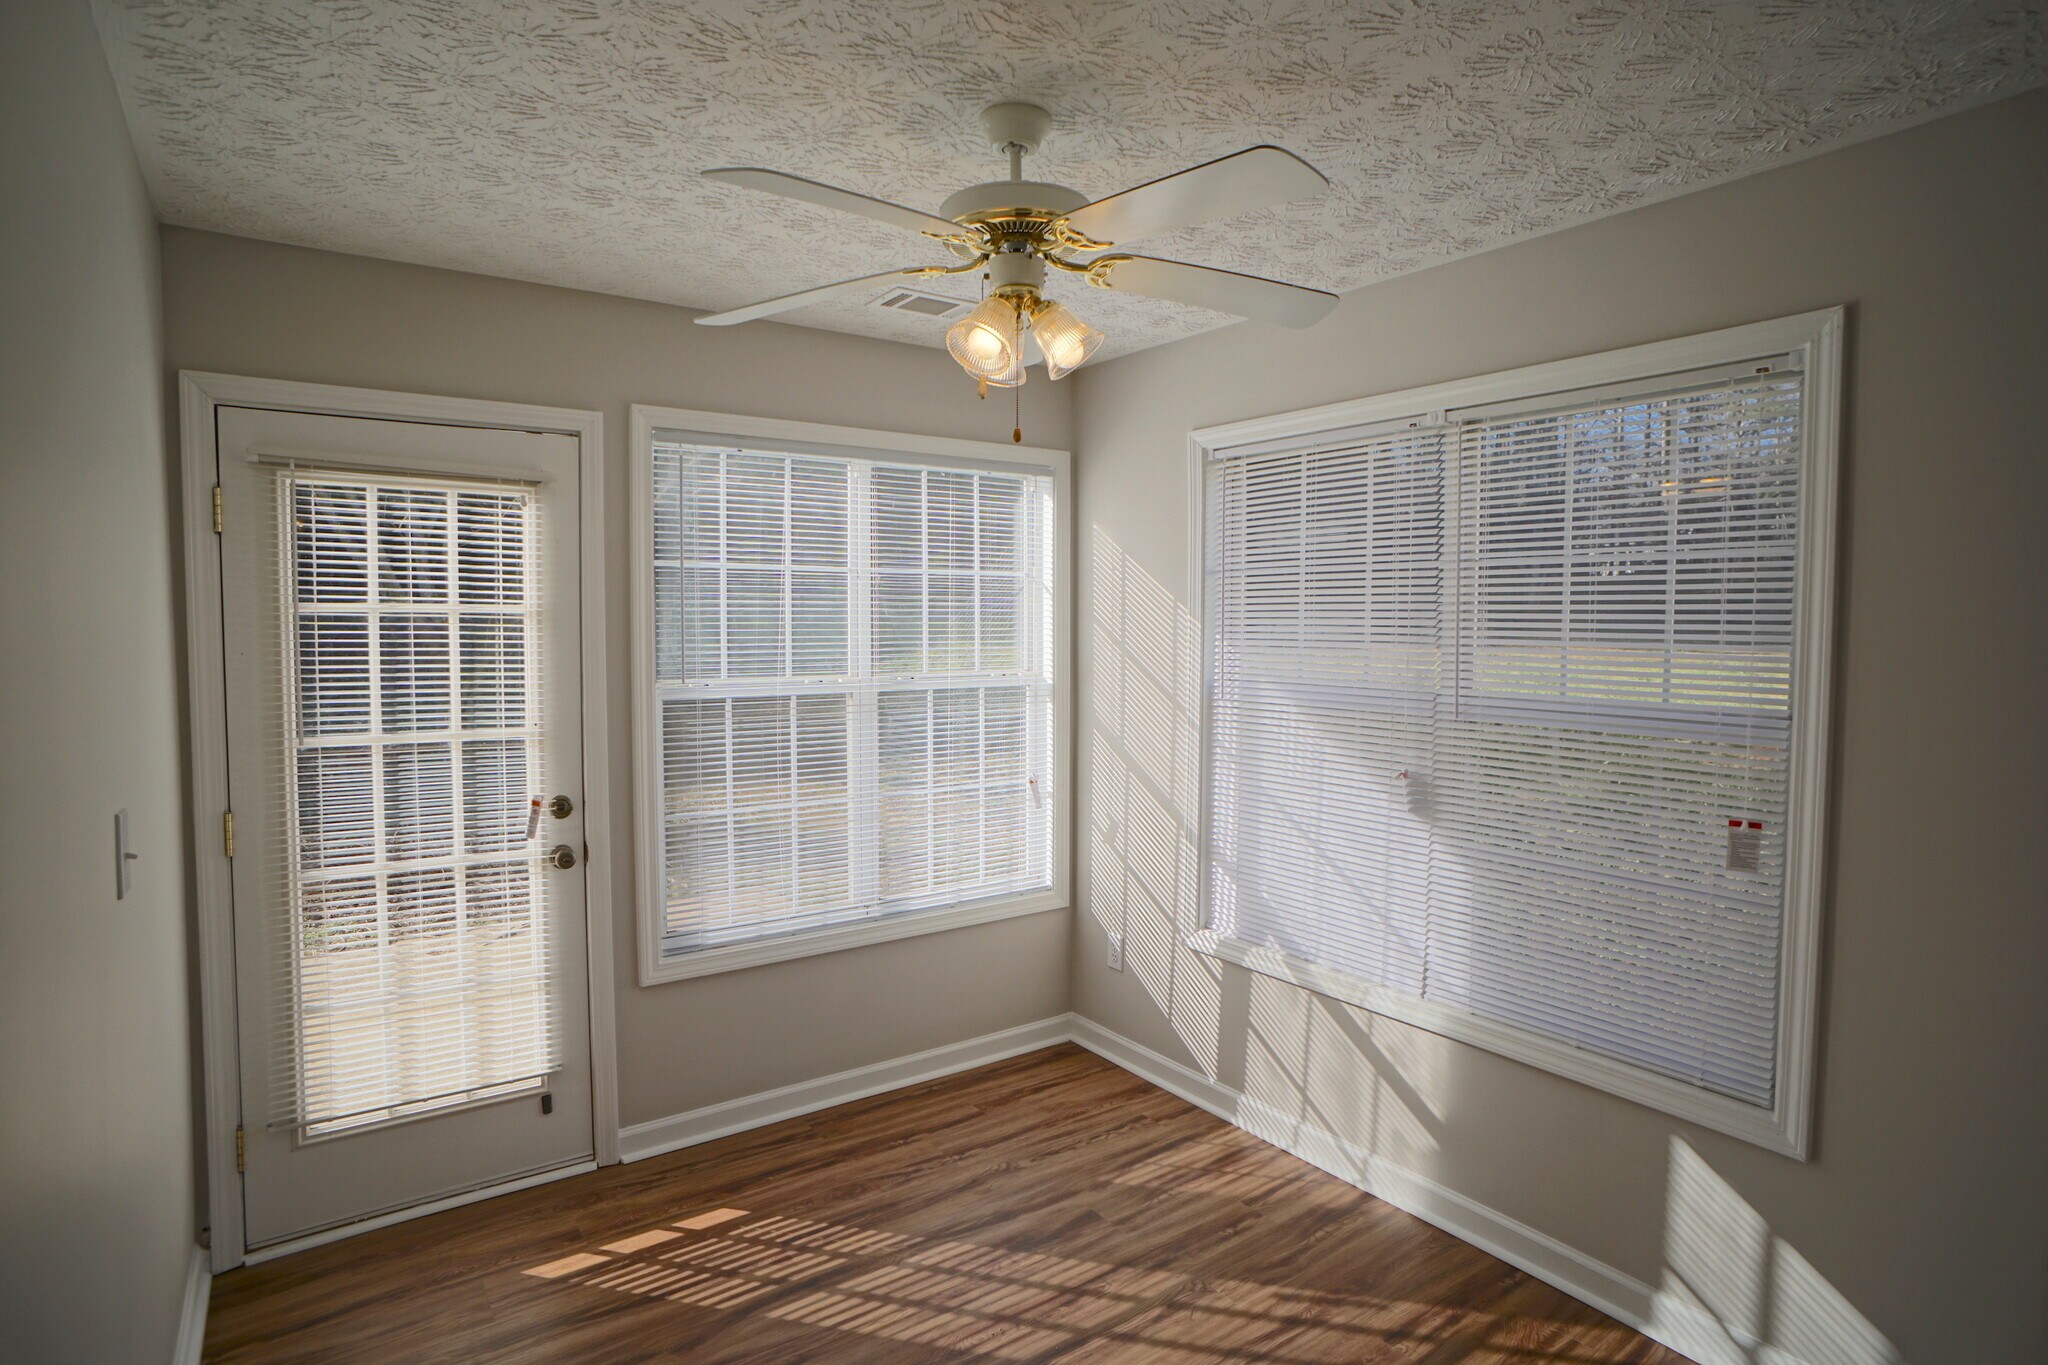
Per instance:
[[[156,223],[84,4],[0,6],[0,1357],[158,1363],[195,1238],[172,483]]]

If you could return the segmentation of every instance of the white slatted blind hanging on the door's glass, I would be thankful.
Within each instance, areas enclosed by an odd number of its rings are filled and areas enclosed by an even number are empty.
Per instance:
[[[537,508],[524,485],[279,471],[289,1052],[307,1136],[555,1070]]]

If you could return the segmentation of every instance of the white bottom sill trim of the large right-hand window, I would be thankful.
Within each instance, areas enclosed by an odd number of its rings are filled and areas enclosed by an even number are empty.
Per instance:
[[[1485,1048],[1487,1052],[1497,1052],[1505,1058],[1513,1058],[1516,1062],[1565,1076],[1567,1081],[1589,1085],[1595,1091],[1608,1091],[1610,1095],[1632,1099],[1638,1105],[1649,1105],[1651,1109],[1661,1109],[1663,1113],[1690,1119],[1702,1128],[1724,1132],[1731,1138],[1743,1138],[1745,1142],[1755,1142],[1757,1146],[1774,1152],[1806,1160],[1804,1146],[1796,1136],[1796,1117],[1788,1109],[1788,1087],[1782,1078],[1784,1072],[1780,1072],[1778,1107],[1761,1109],[1731,1095],[1716,1095],[1714,1091],[1673,1081],[1671,1076],[1645,1070],[1642,1066],[1630,1066],[1628,1062],[1585,1052],[1581,1048],[1573,1048],[1571,1044],[1530,1033],[1528,1029],[1520,1029],[1509,1023],[1485,1019],[1466,1009],[1438,1005],[1436,1001],[1423,1001],[1401,990],[1376,986],[1372,982],[1358,980],[1356,976],[1335,972],[1327,966],[1305,962],[1303,958],[1294,958],[1276,948],[1260,948],[1255,943],[1225,937],[1214,929],[1190,933],[1188,945],[1198,954],[1206,954],[1221,962],[1235,962],[1237,966],[1260,972],[1262,976],[1292,982],[1305,990],[1370,1009],[1372,1013],[1386,1015],[1389,1019],[1413,1023],[1419,1029],[1442,1033],[1444,1038],[1454,1038],[1458,1042],[1473,1044],[1475,1048]]]

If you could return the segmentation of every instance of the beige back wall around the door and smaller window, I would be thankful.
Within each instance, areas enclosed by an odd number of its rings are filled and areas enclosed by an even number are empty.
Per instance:
[[[365,385],[604,413],[606,639],[627,651],[627,409],[662,403],[760,417],[1008,440],[946,352],[752,323],[479,274],[164,229],[170,368]],[[1069,385],[1024,393],[1024,438],[1067,448]],[[1030,915],[823,958],[639,984],[631,831],[631,669],[610,677],[612,884],[618,888],[621,1119],[922,1052],[1067,1007],[1065,913]]]

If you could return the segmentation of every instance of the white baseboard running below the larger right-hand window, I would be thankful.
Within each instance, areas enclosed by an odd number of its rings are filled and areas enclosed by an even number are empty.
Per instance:
[[[1454,1189],[1374,1156],[1337,1134],[1305,1124],[1272,1105],[1260,1103],[1190,1070],[1151,1048],[1112,1033],[1094,1019],[1073,1015],[1073,1042],[1135,1076],[1151,1081],[1161,1091],[1243,1128],[1247,1134],[1292,1152],[1311,1166],[1364,1189],[1368,1195],[1442,1228],[1460,1242],[1499,1257],[1507,1265],[1534,1275],[1571,1297],[1591,1304],[1616,1322],[1624,1322],[1651,1340],[1692,1357],[1700,1365],[1804,1365],[1802,1361],[1763,1347],[1747,1332],[1735,1330],[1698,1304],[1690,1304],[1634,1275],[1559,1242],[1546,1232],[1479,1203]]]

